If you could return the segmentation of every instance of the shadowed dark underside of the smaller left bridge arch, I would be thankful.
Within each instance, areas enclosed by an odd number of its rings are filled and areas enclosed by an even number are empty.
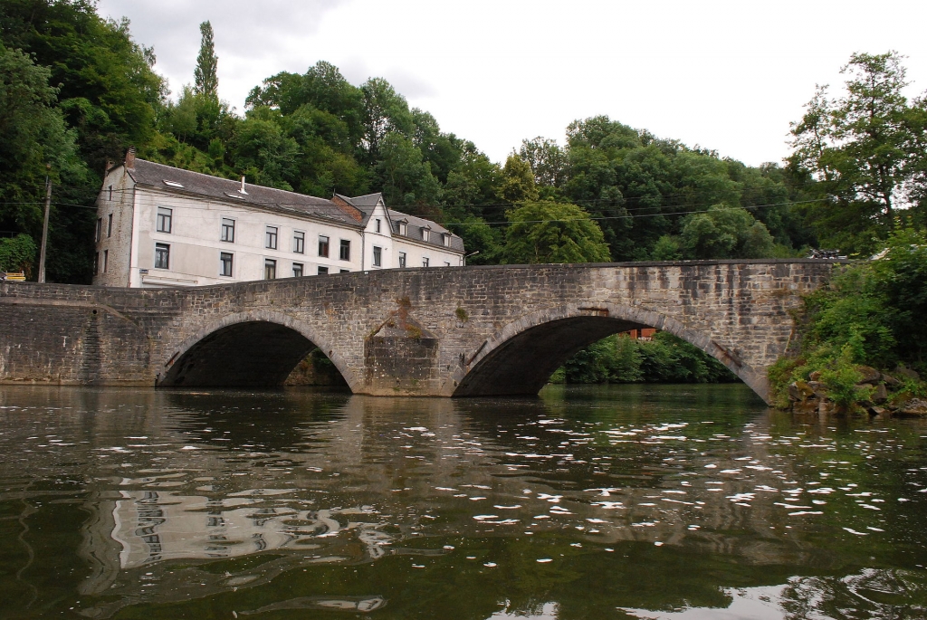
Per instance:
[[[187,349],[159,386],[280,386],[312,348],[311,340],[284,325],[235,323]]]

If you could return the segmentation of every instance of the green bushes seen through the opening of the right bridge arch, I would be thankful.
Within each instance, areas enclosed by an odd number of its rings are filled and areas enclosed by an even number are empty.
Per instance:
[[[610,335],[580,350],[552,383],[726,383],[737,381],[720,361],[667,332],[651,341]]]

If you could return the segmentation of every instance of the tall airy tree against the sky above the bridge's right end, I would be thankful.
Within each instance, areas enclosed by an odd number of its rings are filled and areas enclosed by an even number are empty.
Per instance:
[[[818,88],[792,124],[794,178],[818,202],[808,216],[821,240],[844,251],[879,249],[898,209],[917,204],[925,127],[910,106],[902,57],[854,54],[841,70],[845,93]]]

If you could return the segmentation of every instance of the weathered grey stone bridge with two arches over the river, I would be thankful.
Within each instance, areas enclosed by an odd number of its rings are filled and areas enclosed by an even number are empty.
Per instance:
[[[579,348],[656,327],[763,399],[833,261],[385,270],[175,289],[0,283],[0,382],[274,386],[313,347],[355,393],[534,394]]]

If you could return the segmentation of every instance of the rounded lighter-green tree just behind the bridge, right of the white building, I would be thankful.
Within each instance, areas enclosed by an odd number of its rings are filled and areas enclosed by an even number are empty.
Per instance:
[[[601,262],[609,259],[599,224],[576,205],[528,202],[506,213],[502,262]]]

